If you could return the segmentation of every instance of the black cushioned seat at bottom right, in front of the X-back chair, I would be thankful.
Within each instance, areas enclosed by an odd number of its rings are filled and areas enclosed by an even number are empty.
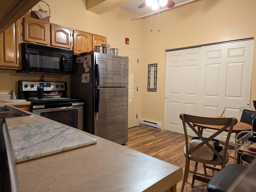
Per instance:
[[[231,184],[247,167],[229,164],[217,172],[207,184],[208,192],[226,192]]]

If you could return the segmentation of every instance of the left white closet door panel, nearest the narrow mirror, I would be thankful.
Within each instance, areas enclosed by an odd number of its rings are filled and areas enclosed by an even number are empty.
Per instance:
[[[167,52],[165,129],[184,133],[179,115],[198,114],[200,88],[200,50],[182,49]]]

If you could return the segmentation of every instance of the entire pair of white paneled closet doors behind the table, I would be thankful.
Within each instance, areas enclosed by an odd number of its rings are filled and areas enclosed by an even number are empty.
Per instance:
[[[240,120],[240,106],[250,104],[252,50],[247,40],[168,51],[165,129],[184,133],[181,113],[216,117],[226,109]]]

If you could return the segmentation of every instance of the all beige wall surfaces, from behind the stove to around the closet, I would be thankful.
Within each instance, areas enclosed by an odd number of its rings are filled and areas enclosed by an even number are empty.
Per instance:
[[[50,22],[108,37],[110,45],[139,50],[138,118],[164,123],[166,51],[222,41],[254,37],[255,0],[196,0],[160,13],[131,21],[136,17],[120,8],[101,15],[86,11],[85,0],[45,0],[51,11]],[[42,4],[42,5],[41,5]],[[43,3],[40,5],[45,10]],[[37,8],[35,8],[37,9]],[[130,45],[124,44],[125,37]],[[254,45],[254,55],[256,45]],[[147,91],[148,64],[158,64],[157,92]],[[252,70],[256,71],[256,57]],[[45,75],[45,80],[67,80],[69,76]],[[40,75],[16,74],[0,69],[0,94],[17,88],[17,80],[38,80]],[[251,100],[256,99],[256,77],[252,76]]]

